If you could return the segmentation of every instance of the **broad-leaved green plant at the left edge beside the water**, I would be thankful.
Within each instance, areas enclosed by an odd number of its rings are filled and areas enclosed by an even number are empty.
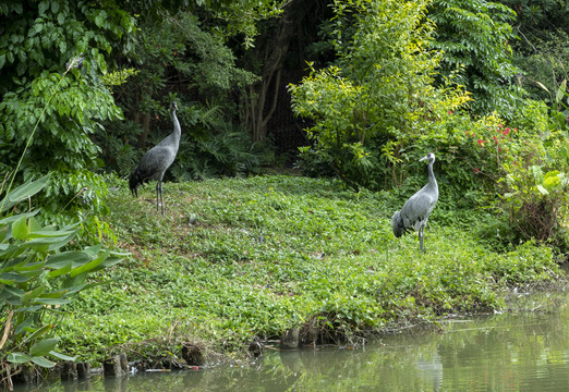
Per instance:
[[[56,363],[46,356],[73,360],[55,351],[59,338],[52,336],[55,324],[44,323],[44,316],[61,311],[76,293],[99,284],[85,283],[89,273],[121,260],[122,255],[100,244],[60,253],[74,238],[78,223],[57,230],[43,226],[34,212],[7,216],[8,207],[17,208],[19,201],[43,189],[48,179],[28,181],[2,199],[7,207],[0,215],[0,310],[10,315],[4,327],[10,338],[0,353],[0,365],[7,360],[50,368]]]

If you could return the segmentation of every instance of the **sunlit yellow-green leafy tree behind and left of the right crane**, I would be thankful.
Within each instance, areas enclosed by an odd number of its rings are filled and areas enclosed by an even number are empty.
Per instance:
[[[307,130],[313,148],[304,155],[352,185],[377,188],[389,177],[386,159],[399,159],[400,140],[409,143],[468,96],[450,79],[444,88],[433,85],[440,56],[428,49],[427,2],[356,3],[353,10],[335,8],[337,42],[344,39],[343,19],[358,13],[356,32],[336,48],[337,65],[313,70],[291,93],[294,112],[314,120]]]

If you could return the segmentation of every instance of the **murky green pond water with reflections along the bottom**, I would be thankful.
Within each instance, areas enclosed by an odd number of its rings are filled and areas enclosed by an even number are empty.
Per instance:
[[[450,319],[356,350],[266,350],[245,366],[16,391],[569,391],[568,305],[567,294],[544,294],[523,304],[533,311]]]

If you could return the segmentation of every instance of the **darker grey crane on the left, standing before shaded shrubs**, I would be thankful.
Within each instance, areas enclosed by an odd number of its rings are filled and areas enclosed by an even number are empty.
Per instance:
[[[166,170],[174,161],[175,155],[178,154],[178,147],[180,146],[180,136],[182,130],[180,128],[180,122],[175,117],[178,105],[172,102],[170,105],[170,114],[174,124],[173,132],[168,135],[162,142],[150,148],[138,162],[138,166],[134,168],[129,179],[129,187],[133,196],[138,197],[136,189],[140,185],[150,180],[158,180],[156,184],[156,210],[158,208],[158,199],[162,204],[164,215],[164,196],[162,196],[162,179]]]

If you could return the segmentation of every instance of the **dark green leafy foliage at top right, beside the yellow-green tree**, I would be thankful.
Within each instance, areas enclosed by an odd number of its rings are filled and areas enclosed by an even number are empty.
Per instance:
[[[512,64],[510,41],[514,12],[486,0],[435,0],[428,17],[436,25],[433,48],[443,52],[438,78],[456,74],[472,94],[470,110],[493,111],[511,120],[522,103],[520,70]]]

